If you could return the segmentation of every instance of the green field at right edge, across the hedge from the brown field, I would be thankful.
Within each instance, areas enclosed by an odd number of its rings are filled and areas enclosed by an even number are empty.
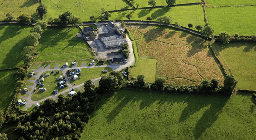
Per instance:
[[[238,79],[238,88],[256,90],[256,43],[213,43],[212,46]]]

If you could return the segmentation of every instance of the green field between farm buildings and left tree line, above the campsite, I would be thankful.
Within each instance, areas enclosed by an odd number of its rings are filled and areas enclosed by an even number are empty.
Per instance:
[[[63,61],[94,58],[90,46],[84,39],[76,38],[76,27],[48,28],[44,31],[40,45],[36,47],[36,62]]]

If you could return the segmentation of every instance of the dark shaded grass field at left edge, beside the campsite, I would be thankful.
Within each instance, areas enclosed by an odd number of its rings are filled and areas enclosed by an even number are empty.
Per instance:
[[[6,110],[10,101],[12,100],[13,92],[15,90],[13,76],[16,70],[0,71],[0,109]]]

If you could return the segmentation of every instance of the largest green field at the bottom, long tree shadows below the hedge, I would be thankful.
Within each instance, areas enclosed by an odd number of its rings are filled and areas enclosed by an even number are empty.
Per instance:
[[[152,96],[152,98],[151,98]],[[175,95],[121,89],[102,97],[81,140],[230,140],[255,137],[251,95]]]

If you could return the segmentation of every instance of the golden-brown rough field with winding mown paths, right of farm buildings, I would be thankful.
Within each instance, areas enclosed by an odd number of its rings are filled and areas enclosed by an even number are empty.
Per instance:
[[[157,60],[156,78],[164,77],[167,83],[177,85],[198,85],[202,79],[215,78],[223,84],[224,77],[207,47],[208,41],[186,32],[162,27],[139,27],[135,31],[133,36],[139,58]],[[140,67],[139,64],[136,64],[137,67]],[[145,65],[143,64],[144,67],[150,67]],[[139,68],[133,67],[132,71],[133,69]],[[133,76],[139,74],[143,73],[132,73]]]

